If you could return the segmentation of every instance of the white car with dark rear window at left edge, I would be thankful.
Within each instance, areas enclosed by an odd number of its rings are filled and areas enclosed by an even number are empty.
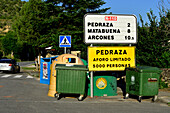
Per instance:
[[[19,73],[20,72],[20,66],[13,59],[0,59],[0,71]]]

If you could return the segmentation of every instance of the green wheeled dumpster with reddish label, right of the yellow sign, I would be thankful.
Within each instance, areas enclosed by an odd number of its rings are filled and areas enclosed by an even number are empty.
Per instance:
[[[138,96],[141,102],[142,96],[153,96],[157,99],[159,90],[159,77],[161,70],[157,67],[139,66],[126,69],[126,96],[129,94]]]

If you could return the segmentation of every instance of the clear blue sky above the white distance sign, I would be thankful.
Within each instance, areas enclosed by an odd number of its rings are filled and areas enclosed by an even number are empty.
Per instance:
[[[28,0],[23,0],[28,1]],[[155,16],[159,19],[158,3],[161,0],[103,0],[106,2],[101,8],[110,7],[106,13],[109,14],[134,14],[140,23],[139,14],[142,16],[144,23],[149,22],[147,13],[153,10]],[[170,9],[170,0],[164,0],[165,5]],[[169,2],[169,4],[168,4]],[[141,23],[140,23],[141,25]]]

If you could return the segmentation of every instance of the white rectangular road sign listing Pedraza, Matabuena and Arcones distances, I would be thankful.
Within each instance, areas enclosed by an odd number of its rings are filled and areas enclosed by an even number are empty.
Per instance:
[[[85,43],[137,43],[135,15],[86,14],[84,16]]]

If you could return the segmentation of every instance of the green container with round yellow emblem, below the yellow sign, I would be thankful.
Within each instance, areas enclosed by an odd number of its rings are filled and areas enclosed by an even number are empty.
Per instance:
[[[88,84],[88,95],[90,96],[90,83]],[[94,73],[93,95],[94,96],[117,95],[117,78],[112,75],[112,72],[99,71]]]

